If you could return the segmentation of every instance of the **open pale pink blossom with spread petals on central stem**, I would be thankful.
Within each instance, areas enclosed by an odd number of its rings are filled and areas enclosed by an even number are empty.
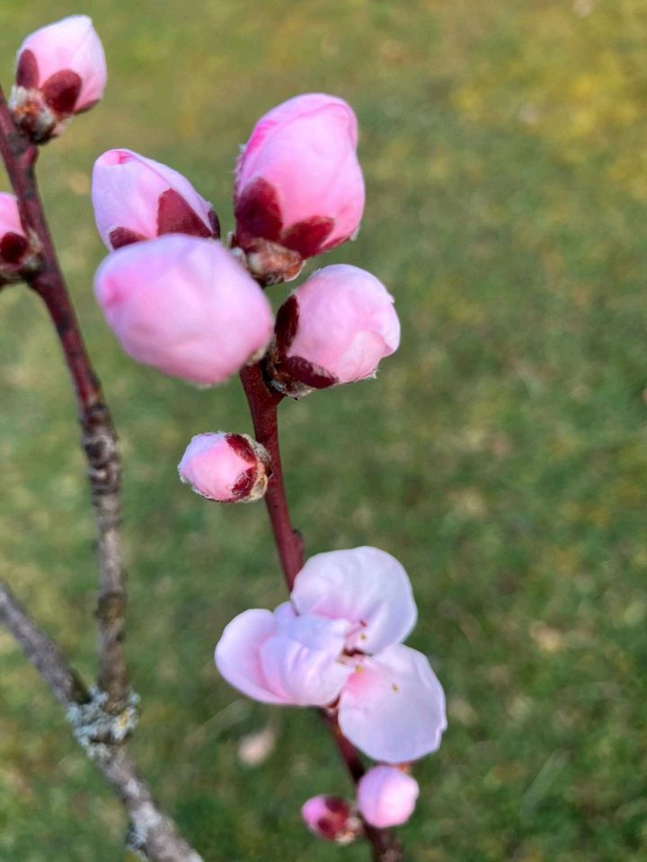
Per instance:
[[[342,733],[375,760],[435,751],[445,697],[426,657],[400,643],[416,607],[398,561],[377,548],[318,554],[290,599],[228,624],[216,647],[226,681],[269,703],[337,708]]]

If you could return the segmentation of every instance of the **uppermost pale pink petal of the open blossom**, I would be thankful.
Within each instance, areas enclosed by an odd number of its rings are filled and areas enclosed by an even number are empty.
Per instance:
[[[332,550],[307,560],[292,602],[298,613],[354,623],[347,648],[377,653],[406,638],[417,611],[400,563],[377,548]]]

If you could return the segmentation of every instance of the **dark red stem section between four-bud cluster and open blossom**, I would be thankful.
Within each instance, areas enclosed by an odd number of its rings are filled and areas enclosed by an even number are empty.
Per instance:
[[[254,436],[270,453],[272,472],[265,493],[265,505],[270,515],[283,576],[288,592],[291,592],[295,578],[303,568],[304,550],[301,535],[290,521],[281,470],[277,407],[284,396],[265,383],[261,363],[248,365],[241,371],[240,378],[252,414]]]

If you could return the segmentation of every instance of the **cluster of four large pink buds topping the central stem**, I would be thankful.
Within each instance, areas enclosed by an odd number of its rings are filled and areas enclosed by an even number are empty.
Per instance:
[[[270,110],[236,165],[229,247],[214,242],[213,207],[180,173],[130,150],[102,154],[93,205],[112,253],[95,292],[129,356],[212,385],[269,350],[272,382],[295,396],[373,376],[400,339],[393,298],[376,277],[350,266],[315,272],[276,328],[261,289],[357,230],[356,144],[341,99],[307,94]]]

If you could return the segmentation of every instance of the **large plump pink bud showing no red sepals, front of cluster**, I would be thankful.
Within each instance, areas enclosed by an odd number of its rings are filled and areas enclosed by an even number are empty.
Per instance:
[[[266,296],[212,240],[172,233],[113,251],[94,292],[129,356],[192,383],[222,383],[270,339]]]

